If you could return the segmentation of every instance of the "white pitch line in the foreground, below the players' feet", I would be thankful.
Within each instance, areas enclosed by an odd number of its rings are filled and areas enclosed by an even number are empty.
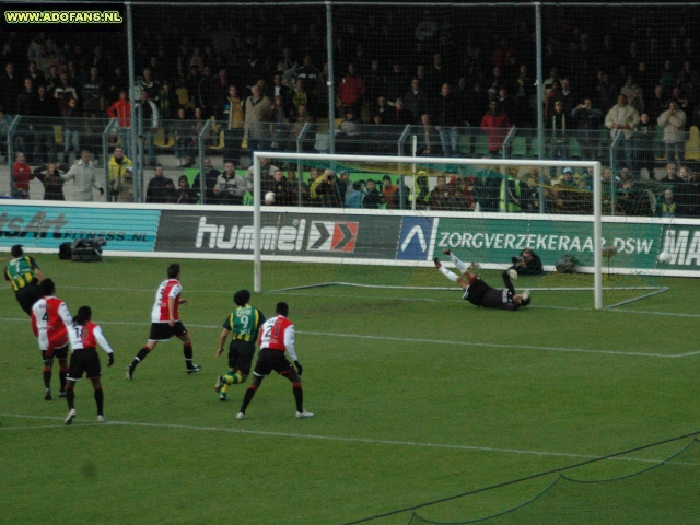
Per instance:
[[[2,418],[21,418],[21,419],[40,419],[48,421],[57,421],[62,420],[62,418],[56,418],[50,416],[27,416],[20,413],[0,413]],[[315,440],[315,441],[337,441],[341,443],[364,443],[370,445],[390,445],[390,446],[410,446],[410,447],[420,447],[420,448],[446,448],[446,450],[456,450],[456,451],[471,451],[471,452],[492,452],[498,454],[517,454],[517,455],[532,455],[532,456],[552,456],[552,457],[573,457],[580,459],[603,459],[605,456],[595,456],[592,454],[576,454],[570,452],[542,452],[542,451],[521,451],[517,448],[497,448],[492,446],[471,446],[471,445],[450,445],[450,444],[441,444],[441,443],[418,443],[412,441],[394,441],[394,440],[373,440],[369,438],[345,438],[337,435],[318,435],[318,434],[300,434],[293,432],[270,432],[264,430],[246,430],[246,429],[232,429],[232,428],[221,428],[221,427],[197,427],[194,424],[175,424],[175,423],[139,423],[136,421],[105,421],[102,423],[88,423],[86,421],[81,421],[80,418],[73,419],[73,423],[80,424],[71,424],[71,429],[79,428],[94,428],[94,427],[105,427],[105,425],[121,425],[121,427],[140,427],[140,428],[151,428],[151,429],[170,429],[170,430],[189,430],[195,432],[228,432],[234,434],[248,434],[248,435],[262,435],[269,438],[291,438],[296,440]],[[88,424],[83,424],[88,423]],[[246,424],[242,422],[240,424]],[[55,429],[62,425],[47,424],[45,427],[18,427],[16,429]],[[4,430],[11,430],[13,427],[0,427],[0,432]],[[643,459],[643,458],[634,458],[634,457],[610,457],[609,459],[620,460],[620,462],[631,462],[631,463],[650,463],[650,464],[658,464],[666,458],[663,459]],[[696,464],[687,464],[687,465],[696,465]]]

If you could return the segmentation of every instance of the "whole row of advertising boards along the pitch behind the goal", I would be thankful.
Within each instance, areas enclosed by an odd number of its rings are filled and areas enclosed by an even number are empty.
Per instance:
[[[429,264],[442,249],[450,248],[464,260],[509,264],[511,257],[530,247],[545,265],[555,265],[563,254],[575,256],[582,266],[593,264],[593,226],[588,221],[472,213],[456,218],[275,210],[266,210],[261,217],[264,256],[415,265]],[[253,253],[253,213],[249,209],[197,207],[160,210],[117,205],[0,205],[0,247],[23,244],[27,250],[50,250],[65,242],[97,236],[106,238],[107,255],[167,253],[243,258]],[[604,245],[617,248],[616,267],[700,271],[700,224],[606,222],[603,237]],[[667,265],[657,261],[657,254],[664,249],[672,255]]]

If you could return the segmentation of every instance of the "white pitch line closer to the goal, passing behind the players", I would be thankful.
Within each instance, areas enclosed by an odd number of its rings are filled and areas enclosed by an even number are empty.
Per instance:
[[[0,319],[3,322],[10,323],[26,323],[26,319],[19,318],[5,318]],[[122,325],[122,326],[149,326],[148,323],[130,323],[130,322],[119,322],[119,320],[101,320],[102,325]],[[219,325],[192,325],[187,324],[192,328],[206,328],[206,329],[220,329]],[[439,339],[412,339],[406,337],[387,337],[387,336],[368,336],[364,334],[335,334],[327,331],[306,331],[306,330],[296,330],[296,334],[304,336],[316,336],[316,337],[343,337],[350,339],[370,339],[370,340],[378,340],[378,341],[395,341],[395,342],[406,342],[406,343],[428,343],[428,345],[454,345],[457,347],[475,347],[475,348],[495,348],[495,349],[508,349],[508,350],[535,350],[540,352],[569,352],[569,353],[592,353],[599,355],[632,355],[640,358],[658,358],[658,359],[677,359],[677,358],[689,358],[692,355],[700,354],[700,350],[695,352],[686,352],[686,353],[676,353],[676,354],[664,354],[664,353],[646,353],[646,352],[622,352],[618,350],[596,350],[596,349],[586,349],[586,348],[565,348],[565,347],[538,347],[534,345],[505,345],[498,342],[475,342],[475,341],[445,341]]]

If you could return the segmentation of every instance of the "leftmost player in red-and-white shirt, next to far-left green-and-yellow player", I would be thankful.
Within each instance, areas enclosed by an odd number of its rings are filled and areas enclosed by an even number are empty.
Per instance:
[[[66,375],[68,374],[68,327],[73,318],[66,303],[55,298],[56,285],[51,279],[44,279],[39,287],[44,296],[32,306],[32,329],[39,341],[44,361],[44,399],[51,400],[51,369],[54,358],[58,359],[61,389],[58,397],[66,397]]]

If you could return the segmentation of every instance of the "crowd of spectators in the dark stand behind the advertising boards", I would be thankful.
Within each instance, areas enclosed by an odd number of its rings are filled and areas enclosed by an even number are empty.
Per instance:
[[[475,20],[481,25],[465,28],[439,9],[397,14],[388,7],[358,8],[352,15],[339,9],[330,74],[320,10],[302,9],[290,19],[289,9],[242,9],[238,14],[246,15],[234,22],[213,8],[178,8],[177,13],[159,13],[154,23],[155,8],[150,8],[151,15],[148,8],[140,9],[136,93],[147,165],[158,174],[158,152],[173,154],[177,167],[192,166],[199,155],[198,136],[211,121],[208,143],[215,143],[221,133],[225,147],[222,171],[211,161],[205,166],[208,202],[248,202],[250,180],[235,174],[242,155],[255,150],[296,151],[295,139],[306,125],[327,121],[331,83],[331,103],[343,117],[337,119],[337,152],[393,154],[401,130],[412,125],[419,155],[465,156],[466,143],[468,155],[475,156],[471,147],[481,135],[488,154],[501,158],[510,128],[535,128],[541,104],[548,158],[608,160],[602,152],[615,139],[608,184],[620,191],[620,200],[629,200],[625,196],[639,189],[665,201],[665,190],[672,189],[676,213],[700,214],[698,163],[685,151],[689,141],[700,145],[700,73],[691,16],[684,26],[677,18],[664,15],[667,25],[660,26],[653,10],[639,16],[606,10],[608,20],[591,13],[578,16],[580,9],[552,11],[544,27],[547,79],[538,90],[532,20],[524,12],[514,14],[517,10],[503,20],[476,10]],[[183,20],[188,20],[187,26]],[[285,31],[277,31],[280,27]],[[101,151],[107,118],[117,119],[119,145],[127,159],[133,158],[127,140],[132,101],[125,38],[124,33],[85,33],[79,38],[58,33],[3,35],[0,125],[7,130],[13,115],[23,117],[13,144],[23,155],[13,167],[15,197],[28,197],[28,180],[40,176],[45,197],[51,198],[56,191],[48,191],[47,180],[65,179],[71,153],[74,162],[81,162],[82,150]],[[7,138],[7,132],[0,133],[3,151]],[[572,151],[572,138],[578,153]],[[661,164],[657,141],[665,149]],[[303,148],[316,151],[313,141]],[[681,184],[666,179],[655,184],[654,168],[666,162],[687,173]],[[401,182],[394,187],[390,177],[388,184],[343,182],[340,175],[329,182],[328,175],[312,174],[305,183],[287,167],[280,166],[279,174],[266,173],[260,188],[262,195],[276,195],[276,205],[359,202],[365,208],[402,208],[416,200],[430,209],[537,211],[536,194],[544,190],[550,210],[575,212],[562,198],[561,188],[569,184],[563,173],[546,174],[547,188],[533,185],[533,177],[522,170],[505,179],[501,174],[438,177],[430,190],[419,177],[412,195]],[[110,170],[113,200],[132,196],[127,178],[126,173],[113,177]],[[186,176],[177,185],[165,179],[170,184],[156,183],[147,200],[201,199],[198,180],[189,187]],[[575,174],[574,180],[579,191],[590,192],[585,174]],[[329,190],[329,185],[336,189]],[[574,200],[582,201],[580,196]],[[648,214],[650,207],[643,208]],[[651,208],[653,213],[663,207]],[[618,209],[630,213],[641,208],[619,205]]]

